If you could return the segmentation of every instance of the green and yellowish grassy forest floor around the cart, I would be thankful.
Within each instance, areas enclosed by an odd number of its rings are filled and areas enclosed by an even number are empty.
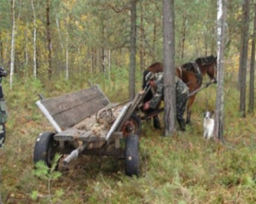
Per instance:
[[[128,86],[93,78],[113,102],[128,98]],[[97,81],[99,80],[99,81]],[[49,203],[49,186],[33,172],[32,154],[38,134],[53,131],[35,102],[45,97],[79,91],[86,82],[28,81],[9,90],[3,82],[8,105],[6,145],[0,150],[2,180],[0,193],[7,203]],[[139,85],[137,86],[139,89]],[[239,94],[225,89],[225,144],[202,137],[202,111],[214,108],[215,85],[195,99],[192,125],[173,138],[161,137],[160,130],[143,122],[141,175],[129,178],[124,161],[101,156],[79,156],[68,169],[60,167],[61,177],[50,182],[53,203],[254,203],[256,201],[255,115],[240,118]],[[138,90],[137,89],[137,90]],[[124,92],[125,90],[125,92]],[[209,98],[211,95],[211,98]],[[161,115],[161,118],[163,116]],[[161,121],[161,124],[163,122]],[[37,199],[32,200],[33,192]],[[63,195],[62,195],[63,193]]]

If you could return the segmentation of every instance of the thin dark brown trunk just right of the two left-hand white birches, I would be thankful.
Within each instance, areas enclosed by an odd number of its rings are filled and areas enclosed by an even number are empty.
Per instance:
[[[51,79],[52,66],[51,66],[51,43],[50,43],[50,31],[49,31],[49,0],[46,0],[46,39],[48,46],[48,78]]]

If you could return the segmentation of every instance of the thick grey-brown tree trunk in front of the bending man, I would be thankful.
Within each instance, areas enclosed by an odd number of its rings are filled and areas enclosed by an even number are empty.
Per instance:
[[[163,28],[165,136],[172,136],[176,123],[174,0],[163,0]]]

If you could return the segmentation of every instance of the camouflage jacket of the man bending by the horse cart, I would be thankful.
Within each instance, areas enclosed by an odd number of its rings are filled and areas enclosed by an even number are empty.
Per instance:
[[[149,107],[155,109],[157,105],[159,105],[160,100],[164,99],[164,76],[163,72],[155,74],[156,80],[156,92],[154,94],[153,99],[149,102]],[[176,84],[176,98],[182,94],[189,95],[189,88],[187,85],[178,77],[175,77],[175,84]]]

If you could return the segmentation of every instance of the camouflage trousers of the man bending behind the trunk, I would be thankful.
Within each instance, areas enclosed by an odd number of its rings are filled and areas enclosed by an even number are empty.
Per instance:
[[[189,94],[181,94],[179,96],[176,96],[176,116],[177,116],[177,122],[183,122],[183,115],[186,111],[186,104],[189,98]]]

